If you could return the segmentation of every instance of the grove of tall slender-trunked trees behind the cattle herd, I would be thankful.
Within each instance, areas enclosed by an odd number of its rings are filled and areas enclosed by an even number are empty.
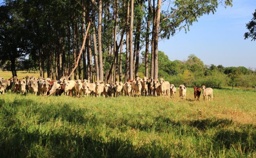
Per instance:
[[[124,76],[125,82],[139,75],[145,47],[144,75],[158,78],[164,71],[158,41],[228,5],[231,0],[5,0],[0,64],[13,76],[17,70],[39,69],[40,76],[47,72],[53,79],[72,75],[92,81],[95,74],[96,80]]]

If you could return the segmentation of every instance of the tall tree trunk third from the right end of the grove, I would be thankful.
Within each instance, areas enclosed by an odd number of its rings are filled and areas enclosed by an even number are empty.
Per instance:
[[[146,28],[146,49],[145,49],[145,76],[149,77],[149,29],[150,29],[150,0],[149,11],[147,13],[147,28]]]

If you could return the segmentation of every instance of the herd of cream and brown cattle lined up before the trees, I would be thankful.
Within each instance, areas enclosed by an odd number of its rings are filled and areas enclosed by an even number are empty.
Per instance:
[[[16,93],[32,93],[35,95],[43,96],[60,96],[62,93],[66,96],[75,95],[80,97],[82,93],[85,96],[104,96],[114,97],[119,95],[125,96],[160,96],[174,98],[176,93],[176,88],[173,84],[170,84],[164,79],[149,79],[147,77],[140,78],[137,77],[134,80],[128,80],[126,83],[114,82],[107,83],[104,85],[102,81],[96,81],[95,83],[90,83],[90,80],[68,80],[65,76],[59,81],[43,77],[35,78],[34,76],[26,76],[25,78],[18,79],[14,76],[10,79],[3,79],[0,77],[0,94],[4,94],[7,90],[11,90]],[[203,91],[204,99],[208,100],[213,98],[212,88],[206,88],[202,85],[201,88],[194,87],[194,97],[199,100],[201,90]],[[180,85],[178,88],[180,98],[186,99],[186,87],[185,85]]]

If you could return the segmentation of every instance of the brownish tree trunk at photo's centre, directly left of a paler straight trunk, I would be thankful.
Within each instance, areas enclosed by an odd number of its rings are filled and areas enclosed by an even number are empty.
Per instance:
[[[129,67],[129,14],[130,14],[130,4],[129,1],[127,1],[127,13],[126,13],[126,25],[127,25],[127,31],[126,31],[126,57],[125,57],[125,82],[127,82],[130,78],[130,67]]]

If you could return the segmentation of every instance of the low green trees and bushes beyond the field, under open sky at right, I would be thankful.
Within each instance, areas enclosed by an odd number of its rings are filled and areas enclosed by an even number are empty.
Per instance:
[[[142,52],[142,55],[145,52]],[[169,82],[186,86],[201,86],[221,88],[253,87],[256,90],[256,69],[244,66],[224,67],[222,65],[205,65],[197,56],[191,54],[186,61],[170,61],[164,52],[158,52],[159,77]],[[150,56],[151,58],[151,56]],[[140,75],[144,74],[145,59],[140,65]]]

